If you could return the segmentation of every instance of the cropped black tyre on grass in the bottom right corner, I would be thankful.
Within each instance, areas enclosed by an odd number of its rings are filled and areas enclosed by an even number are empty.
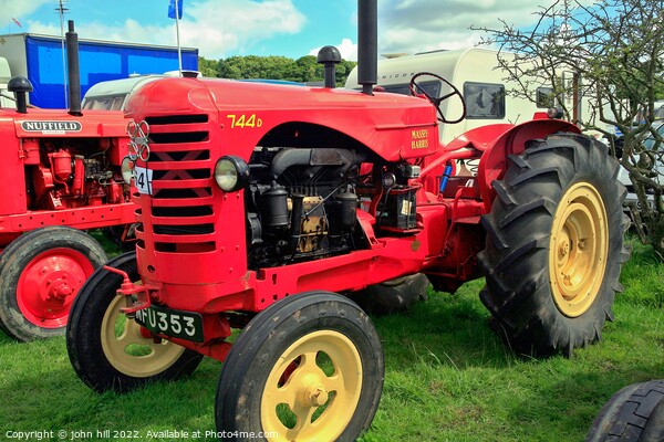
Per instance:
[[[664,380],[622,388],[602,407],[585,441],[661,442],[664,430],[663,398]]]

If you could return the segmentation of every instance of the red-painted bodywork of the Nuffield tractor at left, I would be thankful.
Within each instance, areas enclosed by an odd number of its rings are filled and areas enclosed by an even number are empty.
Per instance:
[[[30,130],[25,129],[27,122],[75,123],[76,129],[52,125]],[[111,166],[120,168],[128,143],[122,113],[87,112],[77,117],[66,110],[30,109],[20,114],[0,109],[0,250],[20,233],[40,227],[93,229],[134,221],[132,203],[126,201],[122,186],[84,188],[83,166],[74,155],[81,144],[96,146]],[[45,155],[46,145],[59,148]],[[74,167],[68,166],[70,160]],[[66,175],[72,179],[64,182]]]

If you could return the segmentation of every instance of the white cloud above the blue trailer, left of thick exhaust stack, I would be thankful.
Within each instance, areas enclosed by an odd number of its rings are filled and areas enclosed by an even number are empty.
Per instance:
[[[186,3],[179,22],[180,44],[198,48],[201,56],[216,60],[231,52],[247,52],[262,40],[295,34],[305,21],[292,0],[191,1]],[[76,32],[81,39],[175,45],[175,21],[172,22],[169,25],[144,25],[134,19],[120,24],[87,22],[76,24]],[[31,22],[30,32],[59,35],[60,28]]]

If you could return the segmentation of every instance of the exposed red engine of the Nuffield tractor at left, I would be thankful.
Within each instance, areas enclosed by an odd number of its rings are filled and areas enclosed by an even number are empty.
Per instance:
[[[128,189],[115,176],[105,151],[108,140],[41,140],[40,164],[27,173],[28,208],[61,210],[121,203]],[[116,168],[115,168],[116,169]]]

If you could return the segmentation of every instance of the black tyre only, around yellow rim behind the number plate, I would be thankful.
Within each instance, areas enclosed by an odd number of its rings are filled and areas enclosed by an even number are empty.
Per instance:
[[[108,261],[108,266],[125,271],[132,281],[138,280],[136,252],[127,252]],[[81,380],[97,392],[113,390],[127,392],[152,381],[170,381],[187,377],[196,370],[203,355],[185,350],[170,367],[160,373],[136,378],[115,369],[103,355],[101,324],[115,291],[104,293],[108,286],[120,287],[122,277],[103,267],[97,269],[76,296],[66,327],[66,350]],[[104,287],[104,284],[106,287]]]

